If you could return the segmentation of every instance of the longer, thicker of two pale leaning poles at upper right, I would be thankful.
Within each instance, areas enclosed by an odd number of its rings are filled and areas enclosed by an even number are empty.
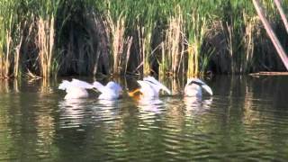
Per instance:
[[[283,49],[283,47],[281,46],[279,40],[277,39],[275,32],[272,30],[272,27],[270,26],[270,24],[268,23],[265,14],[262,10],[262,8],[260,7],[260,4],[258,2],[258,0],[253,0],[253,4],[257,10],[257,14],[259,15],[262,23],[264,24],[264,27],[270,37],[270,39],[272,40],[275,49],[277,50],[277,53],[279,55],[279,57],[282,59],[284,66],[286,67],[286,69],[288,70],[288,58],[287,55],[285,54],[285,51]]]

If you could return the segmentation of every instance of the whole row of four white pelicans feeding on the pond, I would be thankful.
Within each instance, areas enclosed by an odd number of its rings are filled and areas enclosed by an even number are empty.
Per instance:
[[[157,99],[160,90],[164,90],[167,94],[171,94],[171,91],[153,76],[147,76],[144,77],[143,80],[137,80],[137,83],[140,87],[132,92],[128,92],[132,97],[139,95],[142,99]],[[67,94],[65,99],[88,97],[87,89],[96,89],[101,93],[98,96],[98,99],[103,100],[116,100],[120,98],[122,92],[121,85],[116,82],[110,81],[107,85],[102,85],[95,81],[93,84],[90,84],[75,78],[73,78],[72,81],[63,80],[58,86],[58,89],[66,90]],[[201,97],[202,89],[208,94],[213,94],[211,87],[206,85],[202,80],[199,78],[189,78],[184,86],[184,96]]]

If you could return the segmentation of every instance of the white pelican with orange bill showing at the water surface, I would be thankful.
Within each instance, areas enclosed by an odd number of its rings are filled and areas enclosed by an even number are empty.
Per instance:
[[[141,98],[157,98],[161,89],[166,91],[167,94],[171,94],[170,90],[165,85],[162,85],[152,76],[144,77],[143,80],[138,80],[137,82],[140,85],[140,88],[130,92],[130,96],[135,96],[139,93]]]

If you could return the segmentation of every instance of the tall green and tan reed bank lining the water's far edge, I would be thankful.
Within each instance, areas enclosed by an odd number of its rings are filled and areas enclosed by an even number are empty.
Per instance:
[[[274,1],[262,4],[288,47]],[[0,0],[0,78],[259,71],[285,67],[252,1]]]

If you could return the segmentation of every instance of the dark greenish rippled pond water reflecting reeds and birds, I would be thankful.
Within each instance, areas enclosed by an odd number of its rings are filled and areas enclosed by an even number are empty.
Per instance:
[[[287,76],[218,76],[202,100],[170,81],[149,103],[65,101],[59,82],[0,81],[0,160],[288,160]]]

